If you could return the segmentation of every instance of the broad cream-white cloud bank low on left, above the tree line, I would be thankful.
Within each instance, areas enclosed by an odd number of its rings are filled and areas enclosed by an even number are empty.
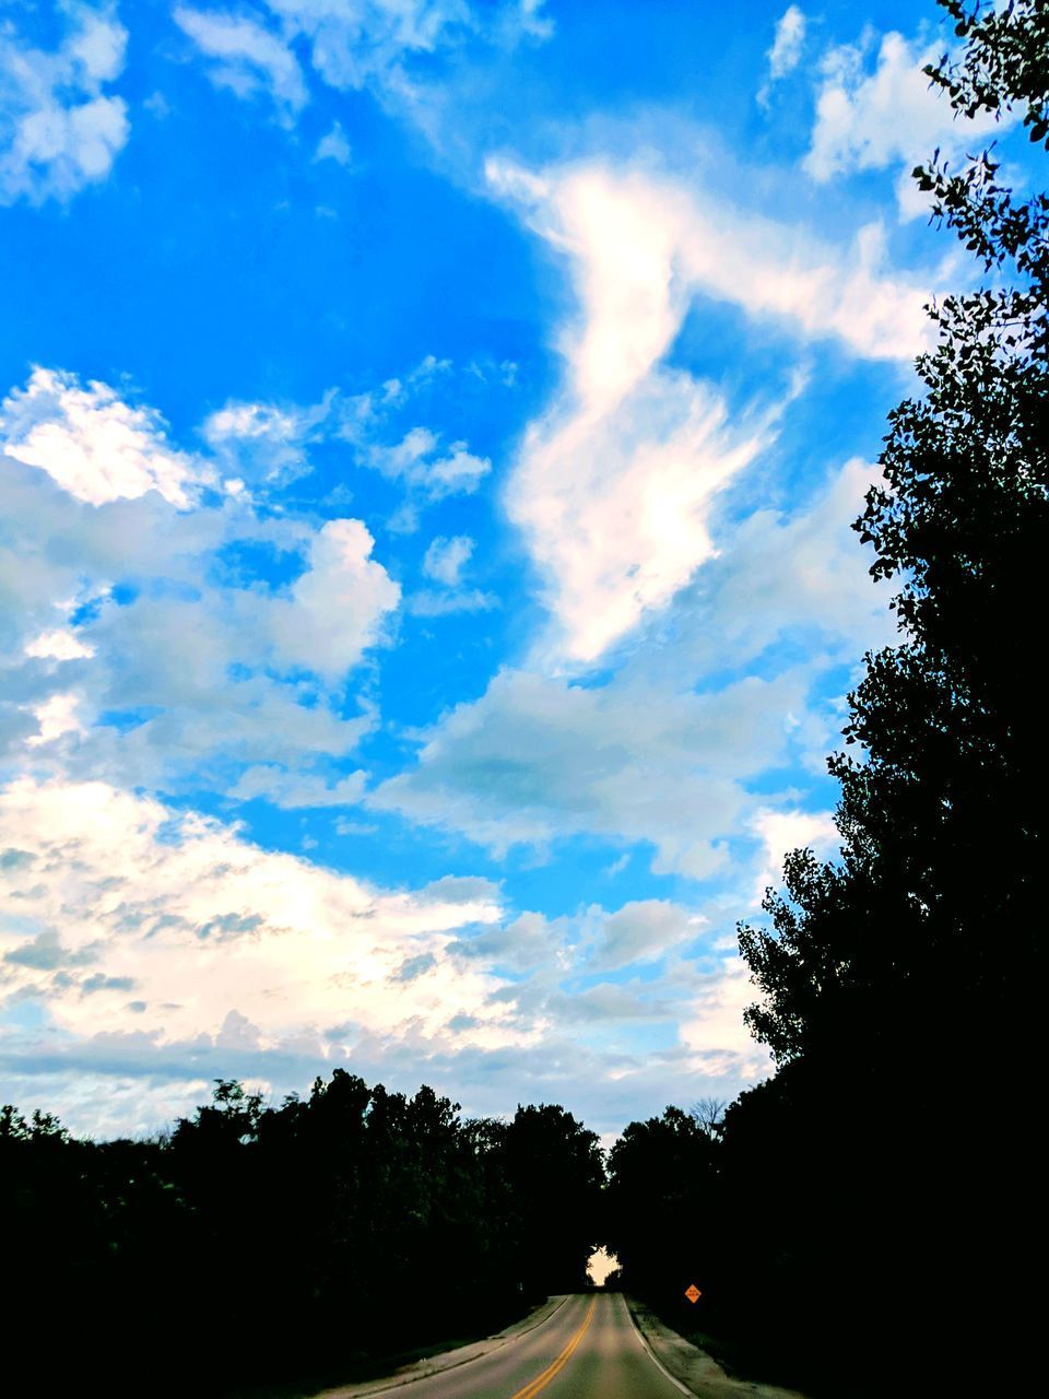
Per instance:
[[[446,954],[459,929],[499,916],[491,886],[466,900],[383,893],[105,783],[11,783],[0,848],[20,852],[0,869],[0,988],[45,999],[63,1031],[134,1032],[154,1049],[236,1048],[236,1035],[323,1063],[341,1046],[326,1032],[347,1021],[439,1034],[470,1006],[467,1039],[515,1038],[488,1007],[491,975]],[[427,975],[394,982],[418,956]]]

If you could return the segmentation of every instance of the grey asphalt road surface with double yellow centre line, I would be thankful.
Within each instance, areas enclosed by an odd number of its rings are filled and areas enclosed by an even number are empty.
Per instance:
[[[392,1391],[393,1395],[399,1391]],[[681,1399],[618,1293],[569,1297],[541,1325],[480,1360],[429,1375],[403,1399]]]

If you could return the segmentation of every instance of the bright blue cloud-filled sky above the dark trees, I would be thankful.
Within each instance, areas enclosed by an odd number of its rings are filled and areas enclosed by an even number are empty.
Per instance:
[[[350,1067],[606,1139],[769,1059],[971,270],[932,0],[0,0],[0,1101]]]

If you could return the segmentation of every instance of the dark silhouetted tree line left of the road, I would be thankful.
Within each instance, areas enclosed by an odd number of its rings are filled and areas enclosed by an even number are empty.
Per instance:
[[[464,1122],[431,1088],[341,1069],[277,1108],[221,1081],[154,1142],[78,1142],[4,1108],[11,1364],[113,1395],[366,1375],[582,1286],[601,1182],[594,1133],[562,1108]]]

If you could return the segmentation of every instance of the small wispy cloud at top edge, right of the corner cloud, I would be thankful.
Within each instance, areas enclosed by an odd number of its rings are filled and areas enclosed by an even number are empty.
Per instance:
[[[215,14],[176,6],[173,20],[213,59],[213,83],[241,98],[267,94],[280,119],[292,125],[309,101],[298,59],[280,35],[248,15]]]

